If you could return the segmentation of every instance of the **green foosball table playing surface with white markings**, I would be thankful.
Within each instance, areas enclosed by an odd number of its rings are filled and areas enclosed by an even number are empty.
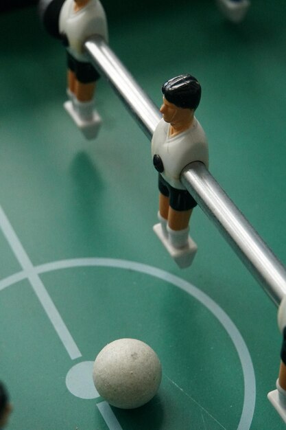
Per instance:
[[[110,47],[158,106],[168,78],[200,80],[196,116],[210,171],[285,262],[284,2],[253,0],[241,25],[211,0],[164,4],[113,9]],[[102,129],[84,139],[62,107],[64,48],[34,8],[2,14],[0,35],[0,379],[14,403],[9,428],[285,428],[267,400],[280,361],[276,306],[200,207],[193,265],[171,260],[152,231],[150,142],[104,79]],[[158,394],[133,411],[108,407],[91,381],[96,354],[122,337],[148,343],[163,366]]]

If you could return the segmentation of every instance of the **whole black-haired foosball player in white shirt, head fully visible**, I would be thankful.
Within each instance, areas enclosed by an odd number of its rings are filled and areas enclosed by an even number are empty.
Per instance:
[[[154,231],[180,267],[188,267],[197,251],[189,237],[189,219],[197,205],[180,182],[180,173],[192,161],[208,167],[208,144],[194,113],[201,87],[191,75],[180,75],[162,87],[163,114],[152,138],[152,157],[158,170],[159,224]]]

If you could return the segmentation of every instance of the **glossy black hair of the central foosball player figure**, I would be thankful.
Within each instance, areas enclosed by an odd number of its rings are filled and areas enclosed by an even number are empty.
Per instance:
[[[163,84],[165,99],[180,108],[197,109],[200,104],[202,89],[196,78],[191,75],[179,75]]]

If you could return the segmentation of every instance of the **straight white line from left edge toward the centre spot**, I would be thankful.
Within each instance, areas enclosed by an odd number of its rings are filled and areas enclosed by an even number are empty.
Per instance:
[[[58,333],[58,336],[60,337],[64,348],[66,348],[69,357],[71,357],[72,360],[78,359],[78,357],[82,357],[78,346],[76,346],[75,341],[71,337],[71,333],[67,329],[67,326],[64,324],[64,321],[62,321],[62,317],[60,316],[58,309],[53,304],[51,297],[49,297],[49,294],[47,293],[43,282],[40,280],[38,273],[36,272],[31,260],[29,260],[25,249],[23,248],[19,238],[16,236],[16,233],[12,228],[12,225],[10,224],[8,218],[5,216],[1,206],[0,228],[3,231],[3,234],[8,241],[8,244],[10,245],[12,251],[14,252],[14,256],[18,260],[19,264],[21,264],[23,271],[25,271],[27,279],[29,280],[34,290],[34,293],[36,293],[36,296],[40,300],[40,304],[42,304],[43,308],[45,309],[45,312],[47,313],[47,316],[49,317],[53,328]]]

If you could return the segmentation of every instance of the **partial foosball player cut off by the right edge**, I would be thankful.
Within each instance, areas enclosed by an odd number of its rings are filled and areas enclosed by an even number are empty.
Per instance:
[[[278,379],[274,391],[268,393],[268,399],[286,423],[286,296],[278,308],[278,327],[283,335],[281,347],[281,361]]]

